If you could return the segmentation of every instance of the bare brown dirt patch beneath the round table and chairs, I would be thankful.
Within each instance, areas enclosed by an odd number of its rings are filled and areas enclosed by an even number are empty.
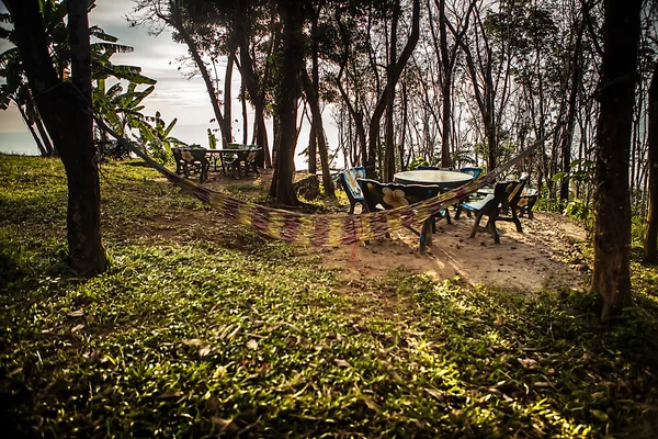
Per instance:
[[[220,178],[205,184],[253,184],[269,188],[269,172],[260,178]],[[232,181],[231,181],[232,180]],[[359,207],[358,207],[359,209]],[[347,206],[344,209],[347,212]],[[409,230],[368,245],[307,249],[308,256],[322,256],[325,268],[336,269],[341,279],[383,278],[392,270],[424,273],[434,279],[460,277],[470,284],[504,286],[507,290],[537,292],[543,289],[582,289],[589,268],[575,244],[587,239],[585,230],[567,217],[535,213],[521,218],[522,234],[512,223],[498,223],[500,244],[487,232],[468,238],[474,219],[438,223],[427,255],[418,254],[418,236]],[[484,225],[485,221],[483,221]]]

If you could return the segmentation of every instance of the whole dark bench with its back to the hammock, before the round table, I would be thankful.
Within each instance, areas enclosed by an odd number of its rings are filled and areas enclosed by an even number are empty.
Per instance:
[[[439,195],[441,188],[438,185],[382,183],[375,180],[358,179],[361,187],[365,206],[368,212],[385,211],[409,204],[416,204]],[[423,222],[421,232],[407,227],[420,238],[419,252],[424,255],[427,246],[432,241],[432,233],[436,232],[436,219],[445,217],[451,224],[450,214],[441,210],[435,215]]]

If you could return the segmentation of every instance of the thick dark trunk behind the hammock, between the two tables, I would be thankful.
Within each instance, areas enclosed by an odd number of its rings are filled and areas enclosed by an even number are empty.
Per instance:
[[[277,97],[279,150],[276,153],[276,178],[272,188],[276,192],[276,203],[298,204],[293,188],[295,146],[297,138],[297,98],[299,97],[299,75],[304,68],[304,13],[303,3],[285,0],[280,3],[283,19],[283,75]]]

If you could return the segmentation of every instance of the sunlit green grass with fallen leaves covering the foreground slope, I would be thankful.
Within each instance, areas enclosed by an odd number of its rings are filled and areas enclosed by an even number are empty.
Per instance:
[[[82,280],[60,164],[0,156],[10,437],[653,437],[655,268],[608,326],[571,291],[345,284],[136,161],[102,169],[112,262]]]

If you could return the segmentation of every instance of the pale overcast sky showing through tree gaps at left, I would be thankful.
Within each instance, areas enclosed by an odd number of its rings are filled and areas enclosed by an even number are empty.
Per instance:
[[[3,9],[1,3],[0,9]],[[148,35],[145,27],[131,27],[126,15],[132,10],[133,0],[98,0],[97,8],[91,12],[89,21],[91,24],[102,27],[106,33],[118,37],[118,43],[135,48],[131,54],[114,55],[112,57],[114,64],[139,66],[145,76],[158,81],[155,92],[144,101],[146,105],[144,113],[155,115],[156,111],[159,111],[167,123],[178,117],[178,124],[172,135],[188,144],[196,143],[207,147],[207,128],[216,128],[217,124],[209,122],[214,119],[214,114],[203,79],[196,77],[189,80],[184,77],[184,69],[179,69],[180,65],[177,58],[186,55],[186,47],[173,43],[168,30],[156,37]],[[8,47],[8,43],[0,42],[0,50]],[[219,78],[224,79],[222,71]],[[232,85],[232,119],[234,121],[240,120],[240,122],[234,122],[236,142],[242,140],[241,108],[236,99],[240,87],[239,82],[240,77],[236,70]],[[224,88],[223,83],[220,83],[220,88]],[[251,114],[249,117],[249,138],[251,139],[253,117]],[[326,121],[327,135],[330,145],[336,147],[336,128],[328,122]],[[0,150],[23,150],[23,148],[16,147],[15,142],[19,142],[16,138],[27,139],[36,154],[36,146],[31,142],[19,112],[14,108],[10,108],[8,111],[0,112]],[[271,134],[269,138],[271,143]],[[299,149],[303,149],[302,145],[307,144],[307,139],[308,130],[304,127],[299,136]]]

